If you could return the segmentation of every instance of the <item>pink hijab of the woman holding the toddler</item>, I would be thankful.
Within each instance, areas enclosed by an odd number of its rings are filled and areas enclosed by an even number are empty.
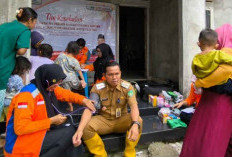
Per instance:
[[[218,49],[224,47],[232,48],[232,26],[230,24],[224,24],[216,29],[218,33]]]

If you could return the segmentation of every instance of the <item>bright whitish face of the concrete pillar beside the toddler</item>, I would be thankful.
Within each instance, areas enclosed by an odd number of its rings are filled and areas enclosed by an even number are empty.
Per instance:
[[[192,76],[191,63],[200,52],[197,46],[200,31],[205,28],[205,0],[182,0],[182,45],[180,54],[179,82],[184,95],[189,92]]]

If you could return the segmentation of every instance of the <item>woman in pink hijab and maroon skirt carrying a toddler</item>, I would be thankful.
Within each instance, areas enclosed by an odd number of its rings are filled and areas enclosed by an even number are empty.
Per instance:
[[[225,24],[216,32],[219,49],[232,55],[232,26]],[[204,89],[186,132],[180,157],[232,156],[231,95],[215,92],[215,85],[231,76],[232,66],[221,64],[208,77],[195,82],[197,87]]]

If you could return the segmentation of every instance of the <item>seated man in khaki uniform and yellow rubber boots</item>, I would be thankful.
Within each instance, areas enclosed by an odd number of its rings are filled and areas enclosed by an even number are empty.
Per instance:
[[[124,156],[135,157],[135,146],[142,132],[142,119],[139,117],[133,86],[121,80],[121,70],[117,62],[106,65],[105,77],[106,81],[95,84],[90,94],[90,97],[97,97],[95,104],[100,103],[100,106],[96,105],[99,109],[98,115],[91,118],[92,113],[88,109],[84,111],[78,130],[73,136],[73,144],[78,146],[83,134],[86,146],[95,157],[107,157],[99,135],[127,133]],[[127,112],[127,104],[131,108],[130,113]]]

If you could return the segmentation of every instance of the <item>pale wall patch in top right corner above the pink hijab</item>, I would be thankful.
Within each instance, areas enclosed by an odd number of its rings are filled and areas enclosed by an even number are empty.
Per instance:
[[[232,24],[232,1],[231,0],[214,0],[214,26],[215,28],[229,23]]]

